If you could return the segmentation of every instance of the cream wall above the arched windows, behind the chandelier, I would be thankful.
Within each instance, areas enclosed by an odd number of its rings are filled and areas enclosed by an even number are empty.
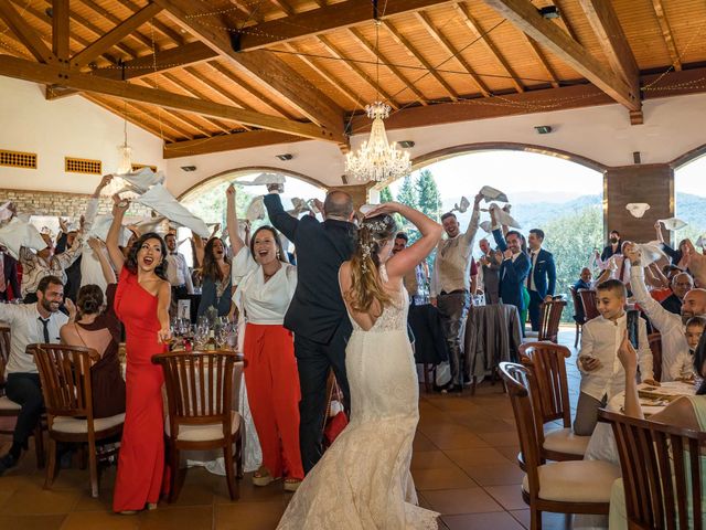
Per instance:
[[[638,126],[630,125],[624,107],[603,105],[393,130],[388,137],[391,140],[414,140],[413,158],[463,144],[510,141],[574,152],[606,166],[627,166],[633,163],[633,151],[641,152],[642,163],[670,162],[706,144],[705,116],[706,94],[696,94],[645,102],[645,124]],[[550,125],[554,131],[538,135],[535,125]],[[353,137],[352,147],[356,148],[366,137]],[[276,155],[284,152],[295,158],[286,162],[278,160]],[[343,155],[336,146],[322,141],[183,157],[165,162],[170,187],[176,194],[213,174],[252,166],[296,171],[335,186],[342,184],[343,174]],[[196,171],[184,172],[181,166],[196,166]]]

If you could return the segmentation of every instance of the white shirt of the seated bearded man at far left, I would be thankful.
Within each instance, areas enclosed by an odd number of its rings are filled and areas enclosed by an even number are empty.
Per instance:
[[[44,325],[40,321],[36,304],[0,304],[0,320],[10,325],[10,359],[6,373],[36,373],[32,356],[24,350],[29,344],[44,343]],[[68,321],[61,311],[49,317],[49,339],[52,344],[61,342],[58,330]]]

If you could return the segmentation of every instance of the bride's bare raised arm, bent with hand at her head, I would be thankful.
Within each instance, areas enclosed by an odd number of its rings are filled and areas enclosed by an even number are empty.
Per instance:
[[[399,213],[403,218],[419,229],[421,237],[414,245],[398,252],[387,262],[387,276],[392,278],[402,278],[405,274],[414,271],[415,267],[429,255],[434,247],[439,243],[442,226],[427,218],[424,213],[398,202],[386,202],[372,210],[366,216],[373,218],[383,213]]]

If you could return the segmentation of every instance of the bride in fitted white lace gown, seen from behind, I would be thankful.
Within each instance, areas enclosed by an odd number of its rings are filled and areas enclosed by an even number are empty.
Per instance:
[[[393,213],[421,237],[391,257]],[[438,513],[417,506],[409,473],[419,385],[403,277],[429,255],[441,230],[396,202],[375,208],[361,224],[354,254],[339,272],[353,322],[345,350],[351,422],[301,483],[279,530],[437,530]]]

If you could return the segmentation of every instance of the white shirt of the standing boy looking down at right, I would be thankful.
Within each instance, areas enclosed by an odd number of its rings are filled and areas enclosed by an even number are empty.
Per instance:
[[[581,331],[581,349],[576,363],[581,372],[581,392],[599,401],[603,395],[610,400],[613,395],[625,390],[625,372],[618,359],[618,349],[627,329],[627,314],[614,322],[602,316],[596,317],[584,325]],[[652,351],[648,339],[648,327],[641,318],[638,324],[638,364],[642,380],[652,379]],[[581,357],[595,357],[600,361],[600,368],[585,371]]]

